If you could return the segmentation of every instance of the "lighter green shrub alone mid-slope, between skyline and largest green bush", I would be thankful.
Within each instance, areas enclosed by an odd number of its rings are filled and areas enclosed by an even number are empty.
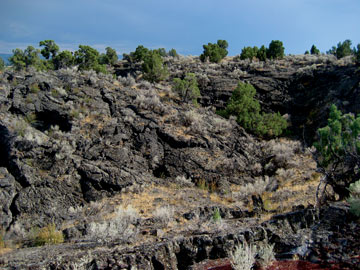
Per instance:
[[[184,79],[175,78],[173,89],[184,102],[192,101],[197,104],[200,97],[200,90],[194,73],[187,73]]]

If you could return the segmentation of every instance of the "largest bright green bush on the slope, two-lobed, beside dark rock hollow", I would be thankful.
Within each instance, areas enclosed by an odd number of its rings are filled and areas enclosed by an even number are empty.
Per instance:
[[[255,99],[256,90],[248,83],[239,82],[226,105],[218,113],[224,117],[236,116],[236,121],[247,131],[261,137],[276,137],[287,128],[287,121],[279,113],[261,112]]]

